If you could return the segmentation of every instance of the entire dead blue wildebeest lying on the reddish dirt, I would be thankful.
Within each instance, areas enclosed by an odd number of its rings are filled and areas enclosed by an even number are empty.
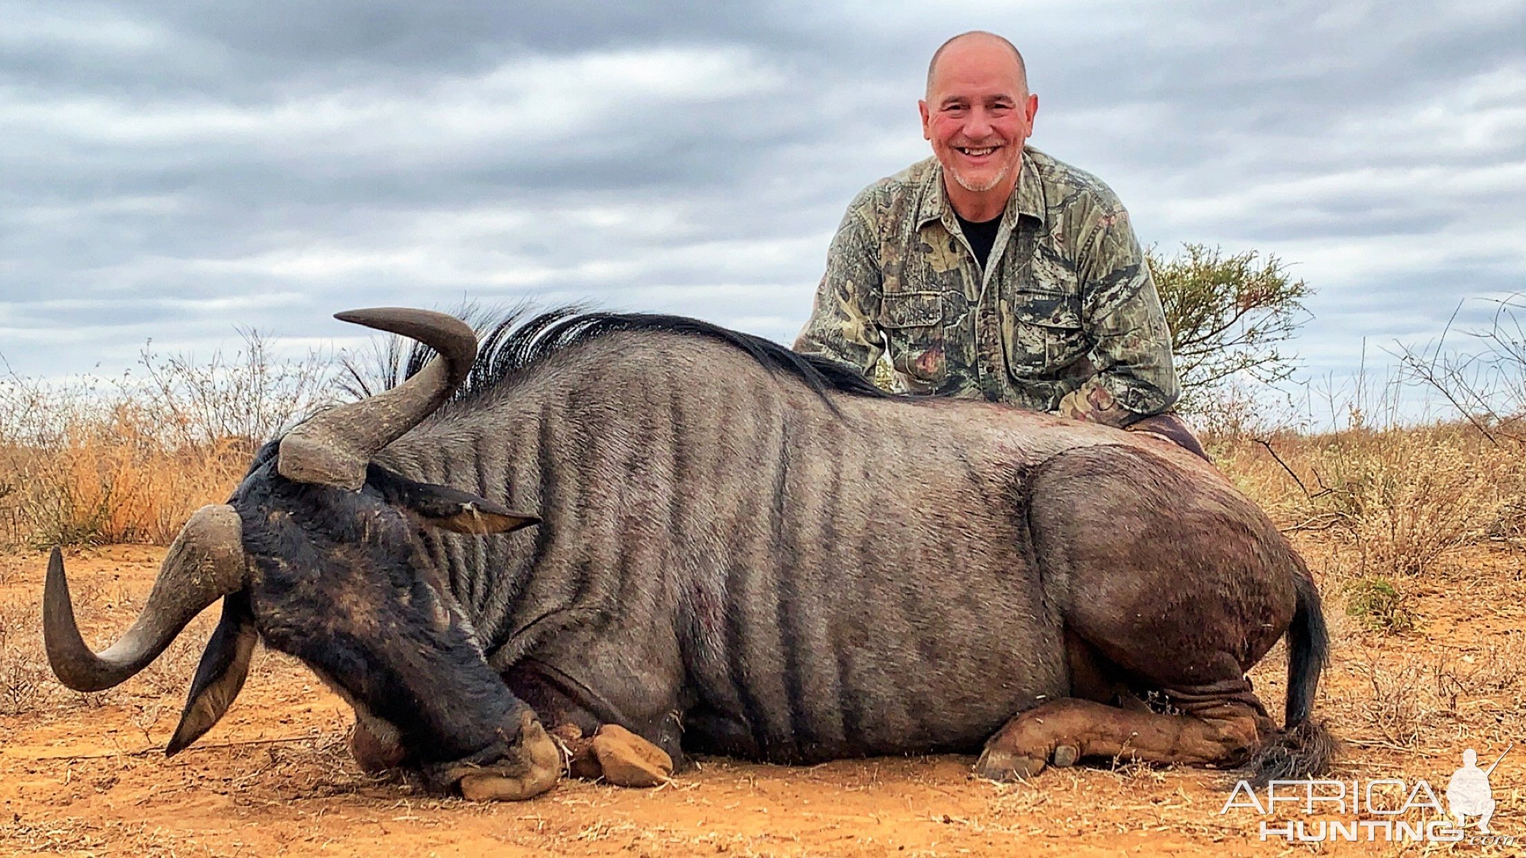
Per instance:
[[[435,357],[267,444],[121,641],[85,646],[50,563],[47,652],[73,689],[131,676],[223,598],[169,753],[221,718],[262,638],[354,705],[362,765],[468,797],[551,788],[542,725],[624,728],[572,763],[621,783],[685,751],[983,748],[992,779],[1323,763],[1308,569],[1166,441],[887,397],[690,319],[551,313],[479,351],[439,313],[339,318]],[[1279,731],[1245,672],[1285,634]]]

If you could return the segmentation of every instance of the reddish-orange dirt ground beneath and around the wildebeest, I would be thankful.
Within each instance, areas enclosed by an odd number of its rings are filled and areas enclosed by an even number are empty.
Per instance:
[[[1340,559],[1308,545],[1322,577]],[[69,557],[85,637],[127,627],[163,556],[110,547]],[[363,776],[345,750],[348,707],[272,652],[227,718],[174,759],[174,730],[208,611],[153,667],[101,695],[58,685],[41,661],[44,557],[0,556],[0,852],[64,855],[1341,855],[1526,853],[1526,573],[1520,551],[1479,547],[1412,582],[1415,632],[1363,627],[1328,592],[1334,664],[1317,705],[1343,740],[1332,777],[1445,783],[1465,748],[1494,771],[1494,832],[1517,844],[1262,843],[1259,823],[1376,820],[1283,806],[1221,814],[1233,777],[1117,763],[1029,783],[969,776],[969,757],[812,768],[707,757],[656,789],[563,782],[525,803],[438,800]],[[1326,589],[1332,589],[1326,580]],[[1274,711],[1280,647],[1254,676]],[[1274,702],[1273,702],[1274,701]],[[935,704],[934,704],[935,705]],[[1399,818],[1430,814],[1408,811]],[[1473,831],[1470,829],[1470,835]]]

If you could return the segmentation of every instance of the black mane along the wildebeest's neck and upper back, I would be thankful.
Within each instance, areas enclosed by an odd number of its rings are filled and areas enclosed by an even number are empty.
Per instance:
[[[823,397],[829,392],[861,397],[891,395],[844,363],[798,354],[774,340],[685,316],[586,311],[580,307],[559,307],[534,316],[523,307],[507,313],[467,308],[458,314],[476,328],[481,345],[472,374],[452,397],[453,403],[484,398],[552,354],[618,331],[658,331],[723,342],[745,351],[769,371],[801,379]],[[423,369],[433,356],[435,350],[417,342],[404,356],[400,340],[394,339],[382,357],[385,363],[382,383],[366,380],[353,363],[346,363],[349,373],[346,386],[356,395],[372,395],[377,388],[395,388]]]

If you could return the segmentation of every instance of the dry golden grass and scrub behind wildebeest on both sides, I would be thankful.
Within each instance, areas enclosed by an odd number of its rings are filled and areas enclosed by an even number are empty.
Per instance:
[[[278,360],[250,333],[229,359],[145,351],[110,383],[0,379],[0,544],[166,544],[227,496],[261,441],[336,398],[334,363]],[[1402,592],[1470,542],[1526,547],[1526,455],[1466,421],[1355,417],[1328,434],[1210,423],[1215,460],[1285,530],[1328,531],[1346,548],[1341,583]]]

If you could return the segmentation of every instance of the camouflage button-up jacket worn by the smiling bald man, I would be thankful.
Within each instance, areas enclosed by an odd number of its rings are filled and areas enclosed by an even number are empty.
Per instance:
[[[795,350],[909,392],[984,397],[1123,426],[1177,402],[1160,296],[1128,212],[1029,147],[986,269],[926,159],[848,206]]]

